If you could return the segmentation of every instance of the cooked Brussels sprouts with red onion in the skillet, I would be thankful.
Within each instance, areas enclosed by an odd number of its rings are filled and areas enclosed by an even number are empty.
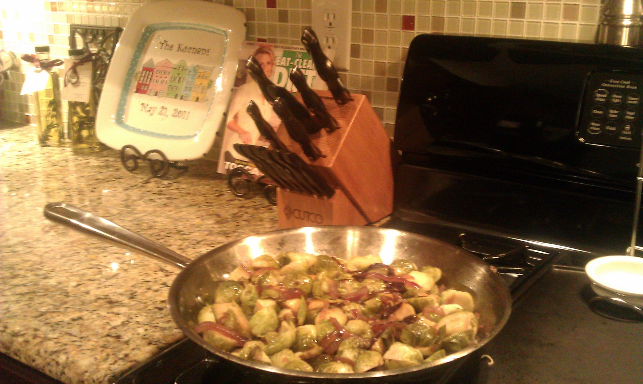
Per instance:
[[[430,363],[475,342],[470,293],[439,268],[378,256],[260,256],[217,284],[198,316],[206,342],[295,371],[361,373]]]

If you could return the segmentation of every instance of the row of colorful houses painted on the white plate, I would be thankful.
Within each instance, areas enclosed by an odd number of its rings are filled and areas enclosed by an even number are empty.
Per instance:
[[[159,98],[205,101],[206,92],[212,87],[212,69],[195,64],[188,67],[185,60],[172,64],[167,58],[154,65],[150,58],[141,67],[134,92]]]

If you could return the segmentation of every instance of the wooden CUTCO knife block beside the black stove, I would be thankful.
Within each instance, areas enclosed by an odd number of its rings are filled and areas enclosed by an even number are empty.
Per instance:
[[[306,225],[365,225],[393,212],[392,143],[366,96],[352,94],[352,101],[338,105],[329,91],[316,91],[340,129],[310,135],[325,157],[310,161],[300,144],[282,126],[278,137],[291,150],[311,164],[336,189],[331,198],[303,195],[278,189],[277,208],[280,228]],[[297,98],[301,100],[298,94]],[[293,220],[293,209],[325,212],[323,224]],[[288,217],[287,213],[291,213]]]

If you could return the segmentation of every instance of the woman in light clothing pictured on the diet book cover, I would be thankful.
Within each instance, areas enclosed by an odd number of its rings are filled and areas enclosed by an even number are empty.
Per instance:
[[[261,65],[267,78],[271,78],[275,66],[275,52],[273,49],[269,46],[260,46],[255,50],[253,56]],[[235,159],[243,158],[233,148],[233,144],[235,143],[257,144],[261,146],[267,146],[268,144],[266,141],[260,140],[260,134],[255,125],[255,121],[253,121],[248,112],[246,112],[250,100],[255,101],[255,104],[261,112],[261,116],[270,123],[275,130],[279,127],[279,118],[276,116],[275,111],[273,111],[272,105],[268,103],[264,94],[259,89],[257,82],[250,80],[244,85],[241,85],[235,91],[235,95],[230,103],[230,109],[228,109],[228,121],[226,122],[226,130],[228,132],[226,132],[223,143],[223,150],[227,152],[225,153],[226,161],[233,162]]]

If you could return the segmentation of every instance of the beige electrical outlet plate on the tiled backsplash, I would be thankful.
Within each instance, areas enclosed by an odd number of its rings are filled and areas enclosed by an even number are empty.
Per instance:
[[[321,49],[340,71],[350,69],[350,21],[352,1],[312,0],[312,29]]]

